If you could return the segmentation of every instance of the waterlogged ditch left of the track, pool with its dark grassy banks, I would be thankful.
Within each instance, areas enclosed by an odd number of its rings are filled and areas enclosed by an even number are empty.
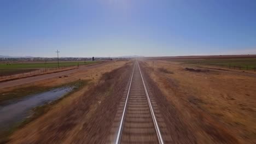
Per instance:
[[[78,80],[54,88],[28,87],[26,91],[19,88],[14,93],[5,95],[9,99],[2,101],[0,105],[0,142],[4,142],[13,131],[40,117],[58,101],[86,85],[88,81]],[[19,97],[15,97],[16,94]]]

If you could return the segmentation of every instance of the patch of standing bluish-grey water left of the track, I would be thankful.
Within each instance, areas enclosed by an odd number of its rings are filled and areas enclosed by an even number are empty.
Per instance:
[[[6,129],[21,122],[28,116],[28,112],[36,106],[42,106],[63,97],[74,87],[55,88],[47,92],[28,95],[15,103],[0,106],[0,129]]]

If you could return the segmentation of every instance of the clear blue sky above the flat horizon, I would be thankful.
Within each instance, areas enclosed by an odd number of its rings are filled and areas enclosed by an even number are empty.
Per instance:
[[[255,0],[0,0],[0,55],[256,54]]]

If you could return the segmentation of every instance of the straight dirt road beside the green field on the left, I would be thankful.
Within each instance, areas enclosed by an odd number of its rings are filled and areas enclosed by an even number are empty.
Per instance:
[[[63,76],[63,75],[69,75],[78,71],[82,70],[88,70],[96,67],[101,67],[102,65],[105,65],[105,63],[100,63],[100,64],[95,64],[95,65],[85,65],[85,66],[80,66],[78,69],[72,69],[72,70],[66,70],[66,71],[61,71],[59,73],[52,73],[52,74],[45,74],[45,75],[39,75],[39,76],[32,76],[32,77],[26,77],[24,79],[18,79],[18,80],[13,80],[13,81],[6,81],[6,82],[1,82],[0,83],[0,89],[1,88],[7,88],[7,87],[14,87],[14,86],[19,86],[19,85],[24,85],[26,83],[30,82],[36,82],[40,80],[45,80],[45,79],[51,79],[53,77],[57,76]]]

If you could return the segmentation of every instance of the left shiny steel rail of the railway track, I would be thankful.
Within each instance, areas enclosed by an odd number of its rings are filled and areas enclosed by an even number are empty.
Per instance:
[[[121,141],[121,134],[122,134],[122,131],[123,131],[124,118],[125,118],[125,113],[126,113],[126,110],[127,110],[127,104],[128,104],[128,99],[129,99],[129,94],[130,94],[131,83],[132,83],[132,77],[133,77],[135,65],[136,65],[136,62],[134,63],[133,70],[132,70],[131,82],[130,82],[130,86],[129,86],[129,89],[128,89],[128,93],[127,93],[127,96],[126,96],[124,111],[123,111],[123,115],[122,115],[121,122],[120,122],[120,125],[119,125],[117,139],[115,140],[115,143],[116,143],[116,144],[120,143],[120,141]]]

